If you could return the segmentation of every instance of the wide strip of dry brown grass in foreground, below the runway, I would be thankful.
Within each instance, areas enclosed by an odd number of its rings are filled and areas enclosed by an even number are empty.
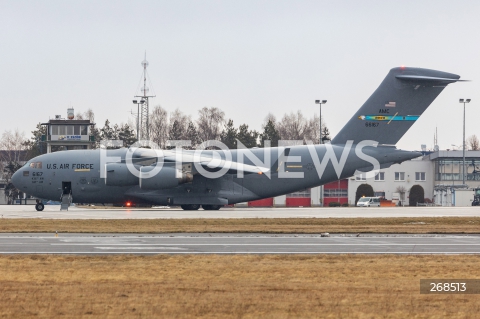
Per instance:
[[[478,318],[478,256],[1,256],[4,318]]]

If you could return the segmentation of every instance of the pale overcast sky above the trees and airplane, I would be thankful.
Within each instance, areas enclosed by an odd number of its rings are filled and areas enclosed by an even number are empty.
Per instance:
[[[331,135],[391,68],[455,73],[397,143],[441,149],[480,136],[480,1],[6,1],[0,0],[0,133],[29,137],[39,122],[91,108],[127,123],[147,54],[151,105],[197,117],[222,109],[261,130],[322,107]]]

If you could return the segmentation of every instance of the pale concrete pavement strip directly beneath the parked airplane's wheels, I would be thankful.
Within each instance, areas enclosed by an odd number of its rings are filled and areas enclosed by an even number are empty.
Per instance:
[[[60,211],[46,205],[0,205],[0,218],[43,219],[155,219],[155,218],[378,218],[378,217],[480,217],[480,206],[470,207],[284,207],[222,208],[218,211],[184,211],[180,208],[81,208]]]

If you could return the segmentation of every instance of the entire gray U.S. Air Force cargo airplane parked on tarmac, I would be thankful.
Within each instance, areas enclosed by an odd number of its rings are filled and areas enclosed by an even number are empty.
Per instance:
[[[184,210],[217,210],[279,196],[420,156],[394,145],[459,78],[421,68],[390,70],[329,144],[230,151],[63,151],[28,161],[12,183],[29,195],[67,204],[179,205]],[[36,209],[43,208],[38,201]]]

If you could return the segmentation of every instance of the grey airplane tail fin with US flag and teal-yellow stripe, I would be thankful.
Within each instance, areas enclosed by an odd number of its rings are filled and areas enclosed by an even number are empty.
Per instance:
[[[395,145],[442,90],[459,79],[441,71],[393,68],[331,143],[374,140]]]

